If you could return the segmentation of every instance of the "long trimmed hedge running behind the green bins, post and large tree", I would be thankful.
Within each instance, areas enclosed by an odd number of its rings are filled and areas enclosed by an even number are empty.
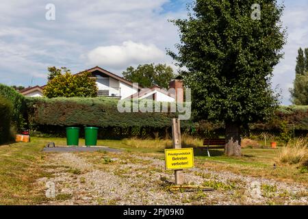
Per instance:
[[[27,98],[30,129],[65,136],[65,127],[100,127],[99,138],[165,137],[170,134],[170,113],[120,113],[118,100],[107,98]],[[192,136],[219,136],[224,125],[199,121],[181,122],[182,131]],[[308,106],[280,107],[269,123],[251,125],[253,133],[308,133]]]

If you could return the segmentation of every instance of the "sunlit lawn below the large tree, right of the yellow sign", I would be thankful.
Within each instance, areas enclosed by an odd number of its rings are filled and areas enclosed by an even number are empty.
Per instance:
[[[210,151],[212,157],[207,157],[206,151],[195,150],[196,166],[218,171],[231,171],[253,177],[264,177],[287,182],[298,182],[307,185],[308,173],[296,165],[281,164],[278,149],[242,149],[242,157],[227,157],[222,150]],[[274,168],[274,164],[277,168]]]

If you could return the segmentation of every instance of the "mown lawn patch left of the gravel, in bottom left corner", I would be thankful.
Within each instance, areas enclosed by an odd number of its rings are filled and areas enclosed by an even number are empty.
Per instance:
[[[0,146],[0,205],[34,205],[44,200],[33,183],[44,177],[44,140]]]

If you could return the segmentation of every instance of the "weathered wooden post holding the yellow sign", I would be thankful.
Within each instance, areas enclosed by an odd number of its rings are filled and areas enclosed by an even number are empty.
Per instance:
[[[174,149],[181,149],[181,125],[179,118],[172,118],[172,143]],[[175,184],[183,185],[183,170],[175,170]]]

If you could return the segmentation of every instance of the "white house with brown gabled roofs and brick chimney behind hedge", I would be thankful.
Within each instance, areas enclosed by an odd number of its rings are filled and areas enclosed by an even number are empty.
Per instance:
[[[100,68],[99,66],[90,68],[86,71],[91,73],[91,77],[96,79],[97,87],[99,88],[97,96],[109,96],[110,98],[116,99],[148,98],[163,102],[174,102],[176,99],[178,99],[178,101],[183,101],[182,95],[177,98],[177,89],[183,87],[183,83],[178,79],[170,81],[169,87],[173,88],[171,89],[173,92],[168,92],[158,86],[146,89],[141,86],[134,86],[131,81]],[[77,75],[81,73],[77,73]],[[36,86],[33,88],[26,88],[20,92],[24,96],[43,96],[43,88],[44,86]]]

